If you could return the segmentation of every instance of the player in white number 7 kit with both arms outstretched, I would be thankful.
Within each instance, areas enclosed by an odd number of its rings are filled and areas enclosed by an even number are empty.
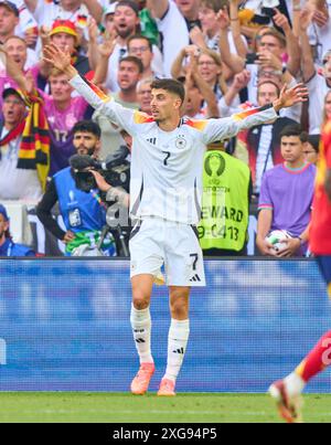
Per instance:
[[[196,236],[202,194],[205,146],[277,118],[277,113],[303,102],[307,89],[285,86],[274,104],[223,119],[181,117],[184,88],[174,80],[152,84],[152,115],[124,108],[71,66],[70,55],[51,44],[45,61],[67,74],[71,85],[96,109],[132,136],[130,215],[136,221],[130,239],[132,285],[131,327],[140,368],[131,382],[134,394],[145,394],[154,372],[151,354],[150,297],[164,264],[171,325],[168,361],[158,395],[175,395],[175,380],[185,353],[189,296],[204,286],[202,251]]]

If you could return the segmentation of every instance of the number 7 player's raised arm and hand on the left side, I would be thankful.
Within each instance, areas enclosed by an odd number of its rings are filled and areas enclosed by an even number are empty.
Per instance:
[[[51,43],[44,47],[45,62],[51,63],[56,70],[67,75],[70,84],[85,98],[94,108],[99,109],[114,124],[126,129],[129,134],[134,131],[135,112],[117,104],[92,82],[82,77],[77,70],[71,64],[71,54],[62,51]]]

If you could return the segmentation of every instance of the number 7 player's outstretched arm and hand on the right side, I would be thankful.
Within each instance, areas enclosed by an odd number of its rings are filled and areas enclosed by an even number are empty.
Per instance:
[[[307,97],[308,89],[303,84],[297,84],[292,88],[288,88],[285,85],[279,97],[270,105],[252,108],[226,118],[210,119],[203,130],[204,142],[210,144],[215,140],[228,139],[244,129],[273,121],[277,119],[278,112],[281,108],[288,108],[299,102],[306,102]]]

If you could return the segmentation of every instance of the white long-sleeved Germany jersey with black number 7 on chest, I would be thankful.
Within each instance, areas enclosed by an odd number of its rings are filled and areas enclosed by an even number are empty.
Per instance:
[[[277,118],[270,105],[223,119],[182,118],[173,131],[163,131],[151,116],[109,100],[79,75],[71,84],[93,107],[132,136],[130,213],[140,220],[154,216],[197,224],[206,145]]]

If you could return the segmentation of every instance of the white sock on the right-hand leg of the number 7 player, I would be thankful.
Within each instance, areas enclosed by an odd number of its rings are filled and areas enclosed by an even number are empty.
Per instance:
[[[168,360],[164,378],[175,382],[180,372],[190,335],[190,320],[171,319],[168,335]]]

